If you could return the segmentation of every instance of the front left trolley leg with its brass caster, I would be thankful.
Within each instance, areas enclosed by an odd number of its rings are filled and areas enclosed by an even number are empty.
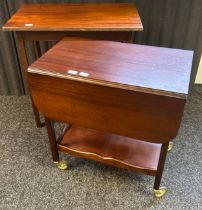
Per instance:
[[[59,153],[57,148],[57,141],[55,135],[55,129],[53,126],[53,122],[45,117],[46,128],[48,132],[49,143],[52,152],[53,162],[57,164],[57,167],[62,170],[68,169],[68,165],[64,160],[59,160]]]

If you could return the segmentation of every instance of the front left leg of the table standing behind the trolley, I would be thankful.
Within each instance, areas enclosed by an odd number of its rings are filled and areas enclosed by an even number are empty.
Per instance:
[[[20,60],[22,63],[22,67],[23,67],[24,71],[26,72],[26,70],[29,66],[29,63],[28,63],[27,54],[26,54],[25,42],[24,42],[24,39],[20,32],[17,32],[16,35],[17,35],[17,39],[18,39]],[[32,96],[31,96],[31,100],[32,100]],[[36,126],[37,126],[37,128],[41,128],[44,124],[41,123],[39,112],[38,112],[37,108],[35,107],[33,100],[32,100],[32,108],[33,108],[33,112],[34,112],[34,116],[35,116]]]

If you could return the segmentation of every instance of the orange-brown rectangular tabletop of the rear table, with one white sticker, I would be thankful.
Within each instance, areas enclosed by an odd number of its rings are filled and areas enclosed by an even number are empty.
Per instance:
[[[135,4],[24,4],[4,26],[13,31],[142,31]]]

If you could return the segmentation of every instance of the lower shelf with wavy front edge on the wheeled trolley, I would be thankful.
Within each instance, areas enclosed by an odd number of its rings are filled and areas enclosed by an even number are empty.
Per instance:
[[[155,175],[161,144],[72,126],[58,144],[58,149],[72,155]]]

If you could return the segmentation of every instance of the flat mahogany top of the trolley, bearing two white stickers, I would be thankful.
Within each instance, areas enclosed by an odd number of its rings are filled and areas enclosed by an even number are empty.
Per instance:
[[[28,71],[184,98],[192,58],[193,52],[187,50],[65,38]]]

